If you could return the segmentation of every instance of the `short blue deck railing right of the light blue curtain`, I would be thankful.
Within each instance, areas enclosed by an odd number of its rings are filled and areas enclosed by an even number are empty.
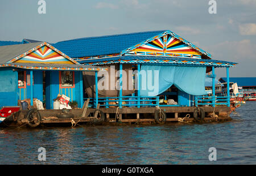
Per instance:
[[[196,96],[196,106],[198,105],[227,105],[229,106],[229,97],[217,97],[217,96]]]

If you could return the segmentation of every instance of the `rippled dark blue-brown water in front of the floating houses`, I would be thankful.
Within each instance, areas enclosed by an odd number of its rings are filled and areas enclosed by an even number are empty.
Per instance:
[[[255,108],[246,102],[224,123],[2,128],[0,164],[256,164]]]

